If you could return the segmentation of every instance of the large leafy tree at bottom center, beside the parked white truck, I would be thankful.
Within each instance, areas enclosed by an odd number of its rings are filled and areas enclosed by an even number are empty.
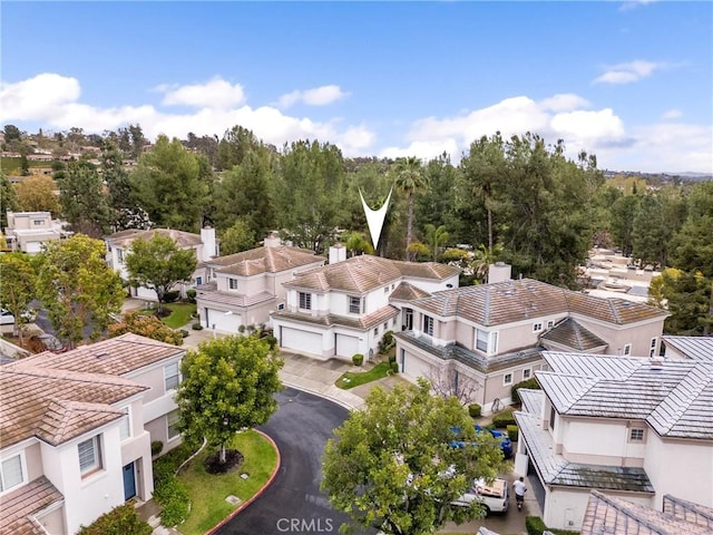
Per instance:
[[[462,449],[450,446],[461,429]],[[334,431],[322,459],[322,489],[353,522],[385,534],[436,533],[446,522],[478,518],[485,510],[456,507],[478,477],[494,478],[502,453],[488,434],[476,435],[456,397],[431,396],[430,385],[371,390]]]

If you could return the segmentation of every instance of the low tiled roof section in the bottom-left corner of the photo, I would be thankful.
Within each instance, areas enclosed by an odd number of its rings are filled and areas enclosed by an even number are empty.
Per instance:
[[[0,497],[0,528],[12,535],[47,535],[32,517],[64,497],[45,476]]]

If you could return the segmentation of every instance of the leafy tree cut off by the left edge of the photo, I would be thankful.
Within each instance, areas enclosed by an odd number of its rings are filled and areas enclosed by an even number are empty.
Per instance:
[[[13,334],[22,342],[20,323],[25,321],[23,313],[35,299],[37,273],[30,256],[25,253],[0,254],[0,305],[14,315]]]

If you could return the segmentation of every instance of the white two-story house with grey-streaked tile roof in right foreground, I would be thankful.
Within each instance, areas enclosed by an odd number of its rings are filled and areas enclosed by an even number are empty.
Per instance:
[[[661,509],[713,504],[713,363],[543,353],[541,390],[519,390],[516,470],[535,471],[543,519],[579,529],[592,489]]]

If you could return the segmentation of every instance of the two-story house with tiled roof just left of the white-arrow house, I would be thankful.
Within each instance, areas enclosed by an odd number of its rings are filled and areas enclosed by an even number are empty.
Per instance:
[[[285,308],[283,284],[324,261],[313,251],[283,245],[276,234],[261,247],[207,261],[209,282],[196,288],[201,324],[233,334],[270,325],[270,314]]]

